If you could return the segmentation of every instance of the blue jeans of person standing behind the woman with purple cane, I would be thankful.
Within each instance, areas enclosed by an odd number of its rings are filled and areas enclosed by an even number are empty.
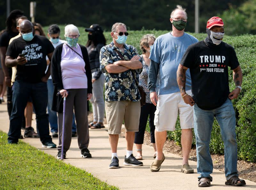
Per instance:
[[[47,88],[48,88],[48,103],[47,103],[47,111],[49,114],[49,123],[51,127],[51,132],[58,133],[58,117],[57,112],[52,111],[52,98],[53,98],[53,89],[54,86],[52,84],[52,79],[48,79],[47,81]],[[76,132],[76,122],[75,122],[75,115],[73,112],[73,119],[72,119],[72,132]]]

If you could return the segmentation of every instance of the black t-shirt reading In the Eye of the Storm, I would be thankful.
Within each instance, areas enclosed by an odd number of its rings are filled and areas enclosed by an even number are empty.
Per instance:
[[[44,36],[35,35],[29,42],[23,40],[22,36],[13,40],[8,46],[6,55],[17,58],[19,54],[24,54],[28,61],[24,65],[17,65],[15,80],[41,82],[47,66],[46,56],[53,51],[52,43]]]

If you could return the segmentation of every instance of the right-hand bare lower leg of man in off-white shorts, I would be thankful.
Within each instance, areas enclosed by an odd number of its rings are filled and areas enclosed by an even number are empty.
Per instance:
[[[192,145],[192,129],[181,129],[182,165],[188,164],[188,156]]]

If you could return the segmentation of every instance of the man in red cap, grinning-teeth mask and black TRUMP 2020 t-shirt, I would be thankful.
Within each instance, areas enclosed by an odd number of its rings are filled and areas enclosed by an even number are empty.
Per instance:
[[[197,173],[199,187],[210,186],[213,170],[209,150],[214,117],[224,141],[226,185],[241,186],[245,181],[237,174],[236,117],[231,100],[242,90],[242,70],[234,48],[222,42],[224,23],[219,17],[207,22],[207,37],[192,44],[184,53],[177,71],[177,82],[185,103],[194,106]],[[228,66],[233,70],[236,88],[230,92]],[[192,96],[186,93],[186,71],[189,68]]]

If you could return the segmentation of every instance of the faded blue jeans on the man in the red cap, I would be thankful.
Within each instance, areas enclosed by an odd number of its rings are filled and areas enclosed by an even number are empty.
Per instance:
[[[227,99],[219,108],[202,110],[194,105],[194,126],[196,135],[197,173],[201,178],[210,178],[213,170],[209,144],[214,117],[220,125],[221,138],[224,142],[225,176],[230,179],[237,174],[236,116],[231,100]]]

